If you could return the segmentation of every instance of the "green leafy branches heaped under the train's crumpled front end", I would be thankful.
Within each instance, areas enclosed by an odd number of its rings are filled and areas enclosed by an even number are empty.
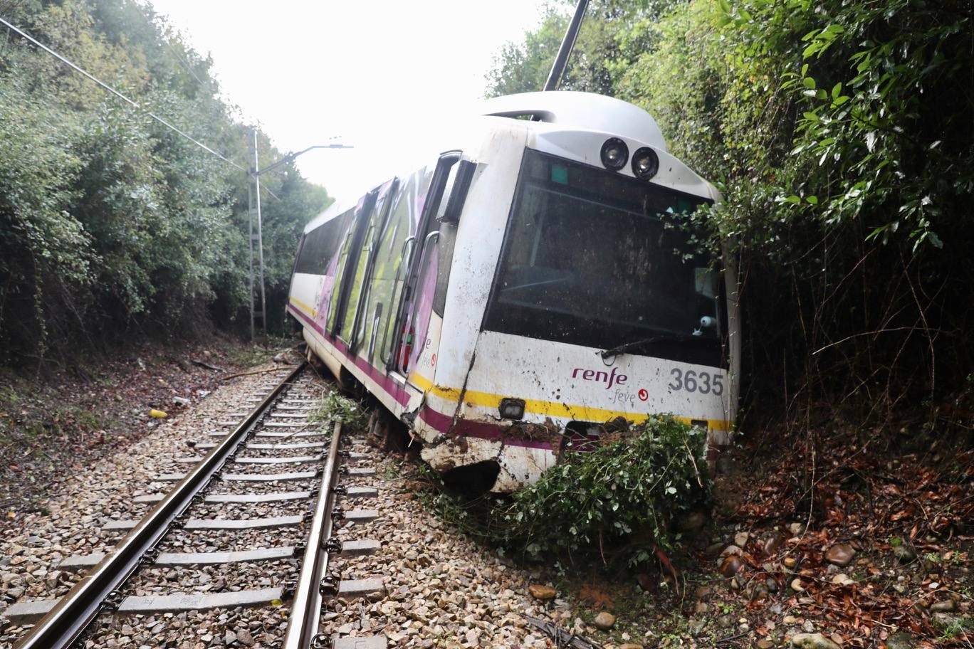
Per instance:
[[[673,520],[709,497],[705,439],[698,428],[655,415],[592,451],[563,454],[513,496],[464,500],[434,490],[425,503],[472,537],[515,555],[647,563],[679,540]]]

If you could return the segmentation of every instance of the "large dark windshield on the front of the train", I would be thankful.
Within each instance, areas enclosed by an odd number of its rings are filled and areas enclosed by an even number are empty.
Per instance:
[[[691,244],[704,202],[525,152],[485,329],[723,367],[720,275]]]

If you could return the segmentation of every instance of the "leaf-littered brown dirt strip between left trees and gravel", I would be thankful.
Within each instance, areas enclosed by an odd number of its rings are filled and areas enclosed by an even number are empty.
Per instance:
[[[266,361],[274,351],[213,338],[146,343],[111,359],[24,377],[0,372],[0,508],[8,523],[43,510],[65,466],[110,456],[178,420],[219,384],[218,368]],[[153,417],[152,411],[169,415]]]

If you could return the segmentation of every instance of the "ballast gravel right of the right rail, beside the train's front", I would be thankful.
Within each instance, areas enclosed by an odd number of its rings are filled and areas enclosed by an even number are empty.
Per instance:
[[[332,637],[385,633],[391,647],[553,646],[527,626],[524,615],[564,624],[575,617],[567,602],[534,599],[527,594],[533,581],[529,571],[506,565],[425,511],[398,477],[405,467],[396,456],[360,444],[352,450],[376,456],[376,474],[349,476],[343,484],[377,487],[377,497],[354,506],[375,509],[379,518],[345,523],[339,537],[376,539],[383,547],[374,555],[339,557],[334,566],[343,579],[381,578],[385,592],[334,602],[322,615],[321,632]]]

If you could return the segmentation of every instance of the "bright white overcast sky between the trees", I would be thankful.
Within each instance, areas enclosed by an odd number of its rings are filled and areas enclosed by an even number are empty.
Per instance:
[[[401,170],[396,150],[422,137],[431,127],[424,123],[469,112],[492,57],[537,25],[544,4],[150,1],[198,52],[212,55],[224,98],[281,151],[336,135],[356,146],[298,159],[307,178],[338,198],[361,194],[375,170]]]

